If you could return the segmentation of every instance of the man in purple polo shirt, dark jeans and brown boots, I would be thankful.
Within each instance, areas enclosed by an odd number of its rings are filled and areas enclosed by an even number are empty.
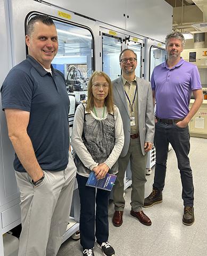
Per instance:
[[[180,57],[184,36],[174,32],[165,38],[168,59],[153,70],[151,77],[154,102],[156,100],[155,137],[156,165],[152,193],[145,198],[144,207],[162,202],[166,174],[168,146],[175,150],[183,186],[183,223],[194,223],[194,187],[188,153],[190,149],[188,123],[203,101],[198,69]],[[191,93],[195,101],[189,110]]]

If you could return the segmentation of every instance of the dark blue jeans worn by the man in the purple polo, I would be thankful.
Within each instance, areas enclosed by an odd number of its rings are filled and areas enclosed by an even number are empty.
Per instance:
[[[188,126],[180,128],[176,124],[155,124],[154,144],[156,148],[156,165],[153,187],[163,190],[166,174],[169,142],[175,150],[178,169],[180,170],[181,183],[183,186],[182,198],[184,206],[193,206],[194,187],[193,175],[188,158],[190,150]]]

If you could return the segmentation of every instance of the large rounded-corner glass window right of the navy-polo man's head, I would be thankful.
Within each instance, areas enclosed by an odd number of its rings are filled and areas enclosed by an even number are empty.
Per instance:
[[[94,70],[93,37],[86,28],[54,21],[59,50],[52,62],[60,70],[67,86],[74,91],[87,90],[87,81]]]

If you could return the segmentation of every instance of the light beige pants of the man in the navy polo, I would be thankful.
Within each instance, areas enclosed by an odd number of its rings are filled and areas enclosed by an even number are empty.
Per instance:
[[[68,225],[76,177],[71,154],[65,170],[44,173],[38,187],[32,185],[28,173],[15,173],[21,199],[19,256],[55,256]]]

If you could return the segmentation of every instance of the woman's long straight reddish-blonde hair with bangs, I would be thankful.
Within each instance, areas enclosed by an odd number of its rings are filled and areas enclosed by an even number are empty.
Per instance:
[[[108,95],[105,98],[105,106],[107,108],[108,113],[113,113],[114,112],[114,106],[113,106],[113,94],[112,94],[112,83],[111,83],[111,79],[108,75],[106,75],[104,72],[102,71],[94,71],[94,73],[92,74],[92,76],[89,79],[88,82],[88,99],[86,102],[86,111],[90,111],[93,109],[94,107],[94,95],[92,92],[92,86],[93,86],[93,80],[95,77],[97,76],[103,76],[106,79],[106,82],[109,84],[109,92]]]

